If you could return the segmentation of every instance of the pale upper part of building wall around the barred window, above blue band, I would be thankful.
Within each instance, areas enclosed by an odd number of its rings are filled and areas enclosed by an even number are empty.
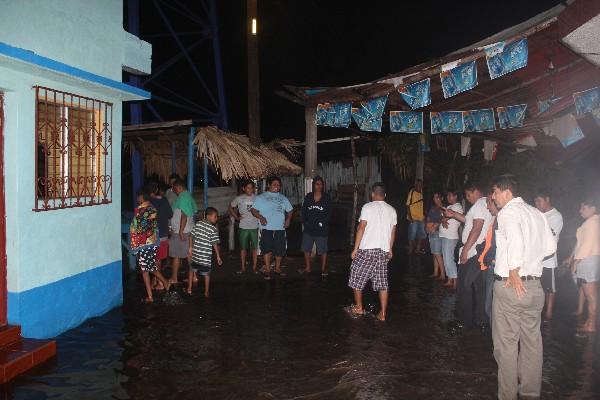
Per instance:
[[[48,76],[51,74],[48,73]],[[112,204],[34,212],[34,85],[113,103]],[[99,92],[0,66],[8,291],[22,292],[121,259],[121,103]],[[120,282],[116,283],[120,284]]]

